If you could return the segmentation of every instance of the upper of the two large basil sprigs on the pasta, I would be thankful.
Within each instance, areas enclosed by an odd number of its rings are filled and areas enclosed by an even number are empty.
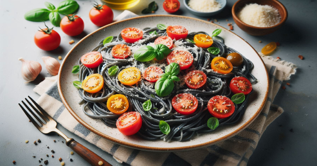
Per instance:
[[[154,48],[152,46],[146,45],[134,53],[134,59],[140,62],[147,62],[156,58],[160,61],[164,59],[164,57],[170,52],[171,50],[164,44],[156,44]]]

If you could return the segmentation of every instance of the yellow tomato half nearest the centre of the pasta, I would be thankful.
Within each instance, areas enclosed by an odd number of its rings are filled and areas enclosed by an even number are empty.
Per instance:
[[[124,85],[134,85],[141,79],[141,72],[136,67],[129,67],[120,71],[118,80]]]

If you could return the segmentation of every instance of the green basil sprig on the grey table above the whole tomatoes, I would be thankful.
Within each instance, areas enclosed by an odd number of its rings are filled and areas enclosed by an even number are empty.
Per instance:
[[[78,3],[74,0],[63,1],[58,4],[57,8],[49,2],[45,2],[44,4],[48,9],[38,8],[30,10],[24,14],[24,18],[34,22],[49,20],[54,26],[59,27],[61,23],[60,14],[74,14],[79,8]]]

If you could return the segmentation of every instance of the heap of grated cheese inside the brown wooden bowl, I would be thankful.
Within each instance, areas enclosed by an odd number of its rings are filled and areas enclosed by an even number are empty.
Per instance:
[[[256,27],[271,27],[281,22],[281,15],[277,9],[256,3],[244,6],[237,17],[242,22]]]

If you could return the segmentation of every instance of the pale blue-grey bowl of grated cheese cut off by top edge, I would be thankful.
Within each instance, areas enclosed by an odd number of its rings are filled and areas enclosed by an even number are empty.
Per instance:
[[[192,14],[208,17],[220,13],[227,0],[184,0],[184,4]]]

